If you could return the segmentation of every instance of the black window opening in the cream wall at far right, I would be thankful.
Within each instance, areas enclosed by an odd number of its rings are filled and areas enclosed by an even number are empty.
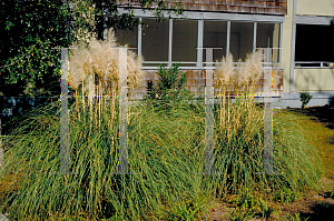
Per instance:
[[[330,67],[334,63],[333,26],[296,26],[296,67]]]

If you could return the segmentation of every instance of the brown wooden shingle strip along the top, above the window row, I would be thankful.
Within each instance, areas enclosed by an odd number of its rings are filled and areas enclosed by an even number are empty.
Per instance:
[[[186,11],[212,11],[212,12],[234,12],[234,13],[255,13],[255,14],[276,14],[287,13],[287,0],[165,0],[170,7],[181,3]],[[135,1],[121,1],[124,6],[138,8]]]

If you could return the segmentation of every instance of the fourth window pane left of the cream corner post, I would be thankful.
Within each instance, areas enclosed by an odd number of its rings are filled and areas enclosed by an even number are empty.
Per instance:
[[[194,20],[173,20],[173,62],[197,61],[198,24]],[[196,66],[196,64],[181,64]]]

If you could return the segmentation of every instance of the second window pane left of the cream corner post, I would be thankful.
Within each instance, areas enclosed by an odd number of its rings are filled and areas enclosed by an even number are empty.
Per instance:
[[[253,52],[254,24],[250,22],[230,22],[229,51],[234,60],[246,59]]]

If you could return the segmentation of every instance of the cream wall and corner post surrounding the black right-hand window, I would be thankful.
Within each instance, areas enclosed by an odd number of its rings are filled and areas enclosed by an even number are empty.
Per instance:
[[[313,99],[311,100],[308,107],[333,104],[334,69],[333,67],[331,68],[331,66],[333,66],[334,61],[330,63],[330,67],[303,68],[301,67],[301,64],[297,64],[297,68],[295,68],[294,47],[297,43],[297,41],[295,41],[297,39],[295,39],[295,36],[293,34],[294,26],[296,28],[297,34],[297,27],[299,24],[328,26],[332,19],[334,19],[333,0],[296,0],[295,16],[294,0],[287,0],[287,13],[283,22],[282,37],[282,68],[284,68],[284,96],[279,99],[275,99],[277,101],[277,107],[301,108],[299,92],[302,91],[307,91],[313,96]],[[328,43],[331,43],[331,41]],[[312,40],[310,41],[311,47],[316,47],[315,44],[316,43],[312,42]],[[330,47],[325,48],[324,50],[330,50]],[[316,58],[316,56],[313,56],[312,59],[313,58]],[[292,82],[291,79],[293,80]]]

